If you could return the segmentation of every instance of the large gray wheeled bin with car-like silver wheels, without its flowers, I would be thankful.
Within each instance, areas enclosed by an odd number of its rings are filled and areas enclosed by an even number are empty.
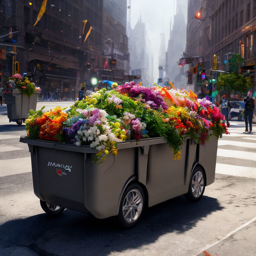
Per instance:
[[[209,131],[212,134],[212,131]],[[124,227],[135,225],[143,207],[185,194],[199,200],[214,182],[218,140],[206,147],[189,137],[181,160],[163,138],[118,143],[118,156],[92,163],[90,146],[33,140],[21,136],[31,153],[34,193],[43,210],[58,214],[65,208],[91,213],[99,219],[116,216]]]

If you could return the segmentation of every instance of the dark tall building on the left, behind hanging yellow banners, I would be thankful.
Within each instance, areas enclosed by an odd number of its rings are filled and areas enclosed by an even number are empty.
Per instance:
[[[13,34],[16,43],[9,47],[11,51],[7,49],[7,55],[16,56],[22,75],[34,78],[42,89],[40,97],[75,99],[81,83],[86,82],[90,87],[90,77],[104,65],[103,0],[48,1],[45,13],[35,26],[42,1],[23,1],[21,5],[17,1],[6,2],[14,15],[13,22],[8,26],[6,23],[4,28],[12,26],[13,32],[17,32]],[[93,29],[83,43],[81,26],[86,19]],[[3,38],[3,43],[3,48],[8,48],[9,38]],[[15,50],[17,54],[10,53]],[[2,61],[2,69],[11,74],[12,65],[6,62]],[[90,70],[86,67],[88,62]]]

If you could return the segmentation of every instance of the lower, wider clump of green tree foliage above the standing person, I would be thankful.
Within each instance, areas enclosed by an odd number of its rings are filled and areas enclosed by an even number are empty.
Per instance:
[[[250,78],[240,74],[222,74],[217,80],[217,90],[234,90],[241,93],[246,93],[252,87]]]

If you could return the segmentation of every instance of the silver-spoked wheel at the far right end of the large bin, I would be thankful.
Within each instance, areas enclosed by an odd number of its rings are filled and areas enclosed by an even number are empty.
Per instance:
[[[201,167],[196,167],[191,175],[189,183],[188,193],[184,196],[192,202],[196,202],[201,199],[205,189],[205,176]]]

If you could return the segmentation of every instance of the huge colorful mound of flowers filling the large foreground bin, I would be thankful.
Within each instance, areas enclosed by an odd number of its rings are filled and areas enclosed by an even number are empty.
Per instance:
[[[186,136],[205,146],[209,130],[216,138],[228,134],[225,117],[209,99],[197,99],[192,91],[145,88],[135,82],[103,88],[65,111],[60,107],[32,111],[26,129],[31,138],[89,145],[98,150],[93,158],[98,164],[108,154],[116,156],[117,143],[126,140],[164,137],[177,160]]]

